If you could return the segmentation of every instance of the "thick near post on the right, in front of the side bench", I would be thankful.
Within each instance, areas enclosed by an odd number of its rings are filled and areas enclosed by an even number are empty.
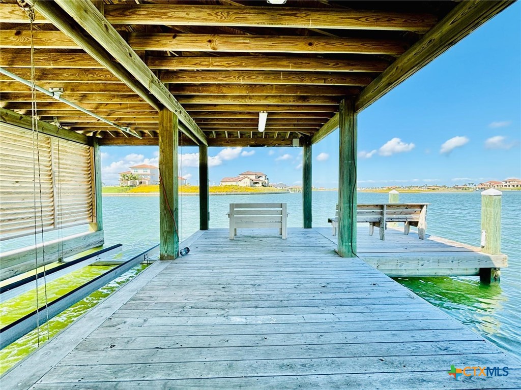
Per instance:
[[[356,112],[353,100],[340,103],[338,253],[356,257]]]

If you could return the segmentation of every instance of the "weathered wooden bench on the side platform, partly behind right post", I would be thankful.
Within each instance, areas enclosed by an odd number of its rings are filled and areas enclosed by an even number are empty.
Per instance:
[[[380,228],[380,240],[385,239],[386,224],[388,222],[404,222],[403,233],[409,234],[411,226],[418,228],[418,238],[425,239],[427,230],[427,205],[428,203],[382,203],[382,204],[358,204],[356,222],[369,223],[369,236],[373,236],[375,226]],[[328,218],[333,228],[333,236],[337,235],[338,228],[338,204],[334,218]]]

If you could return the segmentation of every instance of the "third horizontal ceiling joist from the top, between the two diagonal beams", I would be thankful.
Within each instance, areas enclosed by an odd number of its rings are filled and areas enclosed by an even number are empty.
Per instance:
[[[151,69],[163,70],[262,70],[383,72],[389,65],[380,59],[329,59],[308,57],[148,57]]]

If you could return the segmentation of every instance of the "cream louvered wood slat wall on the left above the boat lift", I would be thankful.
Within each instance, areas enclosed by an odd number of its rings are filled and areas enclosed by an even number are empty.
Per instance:
[[[0,240],[92,222],[91,148],[0,124]]]

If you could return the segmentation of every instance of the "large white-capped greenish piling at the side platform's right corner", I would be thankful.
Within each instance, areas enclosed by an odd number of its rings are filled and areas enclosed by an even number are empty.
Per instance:
[[[501,191],[488,189],[481,192],[481,251],[490,255],[501,254]],[[500,268],[479,268],[482,283],[498,283]]]

